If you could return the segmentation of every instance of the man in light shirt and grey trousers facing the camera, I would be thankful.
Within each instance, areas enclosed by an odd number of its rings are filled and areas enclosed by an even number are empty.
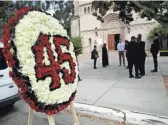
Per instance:
[[[121,39],[119,40],[119,43],[117,45],[117,50],[118,50],[118,54],[119,54],[119,66],[121,66],[122,62],[121,62],[121,58],[123,59],[123,65],[125,66],[125,43],[121,41]]]

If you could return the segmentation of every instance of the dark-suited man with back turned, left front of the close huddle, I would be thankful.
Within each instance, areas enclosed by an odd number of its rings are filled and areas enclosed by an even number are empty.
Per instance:
[[[128,67],[129,67],[129,77],[133,78],[133,74],[132,74],[132,68],[133,66],[135,67],[135,79],[139,79],[141,78],[139,76],[138,73],[138,62],[137,62],[137,48],[138,48],[138,44],[135,42],[136,38],[135,36],[131,37],[131,42],[128,43],[128,48],[127,48],[127,52],[128,52]]]

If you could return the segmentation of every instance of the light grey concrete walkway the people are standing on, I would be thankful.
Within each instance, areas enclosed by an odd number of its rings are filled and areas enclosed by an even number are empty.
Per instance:
[[[76,102],[124,109],[141,113],[168,116],[168,95],[162,75],[168,75],[168,58],[159,57],[160,70],[150,73],[153,60],[146,60],[146,76],[142,79],[129,79],[128,70],[118,67],[117,56],[110,56],[110,65],[102,68],[101,58],[98,69],[93,69],[93,60],[80,59],[80,76]]]

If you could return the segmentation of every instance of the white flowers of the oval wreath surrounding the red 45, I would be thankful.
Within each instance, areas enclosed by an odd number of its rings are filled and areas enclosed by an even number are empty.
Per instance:
[[[61,87],[54,91],[49,90],[49,85],[52,81],[51,77],[47,77],[45,80],[37,81],[36,72],[34,69],[35,55],[32,52],[32,46],[34,46],[37,41],[39,34],[48,35],[61,35],[67,37],[66,30],[59,24],[58,20],[46,15],[45,13],[38,11],[28,12],[27,15],[23,17],[15,27],[15,39],[14,43],[17,47],[17,57],[20,61],[20,67],[22,67],[21,72],[30,79],[30,84],[35,95],[38,97],[38,101],[47,104],[62,103],[69,100],[71,94],[77,89],[78,81],[78,67],[75,67],[76,79],[73,84],[66,85],[64,80],[60,78]],[[51,50],[55,56],[55,61],[57,61],[58,54],[55,52],[55,45],[53,44],[53,37],[50,37],[49,42],[51,43]],[[71,54],[73,61],[76,62],[76,57],[73,52],[73,44],[70,43],[69,50],[65,46],[61,46],[63,53],[68,52]],[[43,50],[45,65],[50,65],[48,60],[48,54],[46,49]],[[76,63],[77,64],[77,63]],[[65,67],[70,72],[70,66],[68,62],[64,62],[61,67]],[[59,76],[62,76],[59,73]]]

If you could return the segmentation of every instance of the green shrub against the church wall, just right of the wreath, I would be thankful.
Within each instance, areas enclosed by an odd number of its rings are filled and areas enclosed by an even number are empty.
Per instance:
[[[78,50],[77,55],[82,53],[82,38],[81,37],[71,37],[70,38],[71,42],[74,45],[74,49]]]

